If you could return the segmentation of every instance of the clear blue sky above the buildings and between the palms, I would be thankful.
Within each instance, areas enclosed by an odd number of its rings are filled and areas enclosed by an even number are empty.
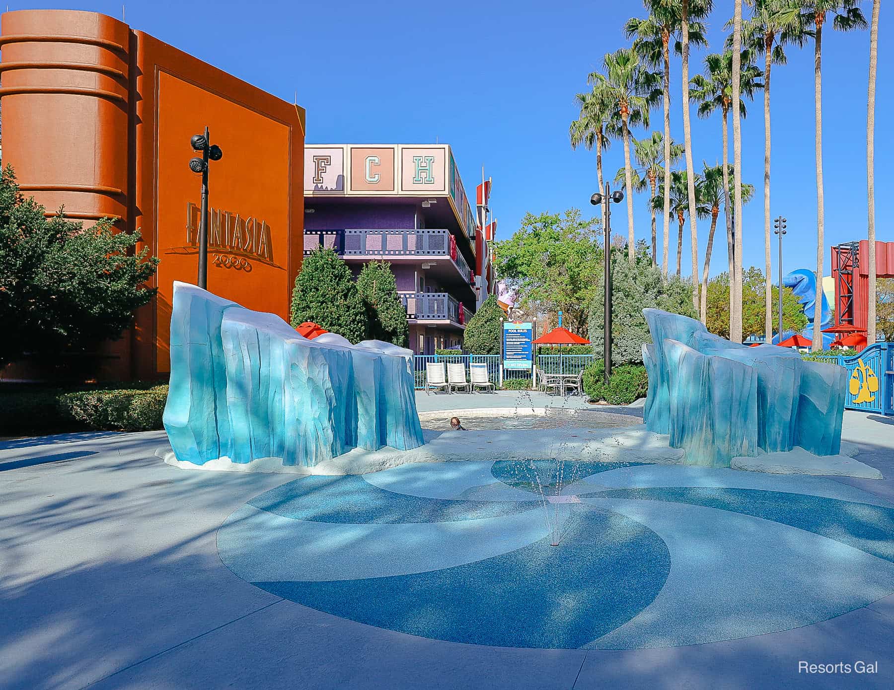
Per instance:
[[[121,17],[120,2],[11,2],[9,8],[65,6]],[[715,2],[711,51],[721,48],[732,2]],[[868,16],[872,3],[863,3]],[[885,8],[890,10],[890,8]],[[598,14],[597,14],[598,13]],[[493,177],[492,208],[505,239],[527,211],[578,206],[592,215],[595,153],[569,147],[574,94],[606,52],[628,46],[623,24],[643,16],[638,2],[544,4],[517,0],[450,4],[404,2],[254,3],[153,0],[128,2],[126,20],[243,80],[308,111],[309,142],[450,143],[468,191],[481,165]],[[199,18],[206,30],[198,30]],[[894,240],[894,187],[884,174],[894,156],[894,59],[887,42],[890,12],[882,11],[876,96],[876,230]],[[865,118],[869,32],[823,37],[823,161],[826,270],[830,244],[866,233]],[[692,56],[691,73],[704,52]],[[789,63],[772,74],[772,216],[789,219],[786,270],[813,267],[816,252],[813,46],[789,48]],[[679,60],[671,63],[671,133],[682,140]],[[746,265],[763,267],[763,95],[743,122],[743,176],[758,195],[744,213]],[[661,108],[652,129],[661,129]],[[731,129],[731,128],[730,128]],[[635,132],[643,136],[644,131]],[[699,120],[693,108],[693,153],[721,159],[721,122]],[[731,137],[730,137],[730,158]],[[605,156],[606,171],[623,164],[620,142]],[[626,233],[626,204],[612,226]],[[649,236],[645,196],[635,200],[637,238]],[[659,236],[661,220],[659,219]],[[688,228],[688,225],[687,225]],[[722,229],[722,227],[721,227]],[[699,223],[700,256],[708,223]],[[671,221],[671,237],[675,223]],[[688,230],[687,230],[688,234]],[[775,240],[775,238],[773,238]],[[776,272],[773,244],[773,274]],[[725,270],[722,237],[712,273]],[[659,248],[659,252],[660,252]],[[671,240],[671,261],[675,245]],[[688,239],[683,248],[689,272]],[[704,261],[704,257],[701,259]]]

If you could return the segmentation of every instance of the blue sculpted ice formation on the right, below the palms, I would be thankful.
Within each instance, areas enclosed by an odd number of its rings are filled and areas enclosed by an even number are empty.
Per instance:
[[[645,428],[670,434],[688,465],[730,467],[733,458],[795,446],[839,453],[842,367],[804,361],[790,348],[730,342],[661,309],[643,314],[653,340],[643,345]]]

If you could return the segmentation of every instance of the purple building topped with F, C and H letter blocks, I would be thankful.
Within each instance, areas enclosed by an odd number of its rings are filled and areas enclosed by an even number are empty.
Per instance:
[[[460,346],[487,282],[476,274],[476,216],[450,147],[310,146],[304,169],[305,254],[333,248],[355,274],[389,262],[410,349]]]

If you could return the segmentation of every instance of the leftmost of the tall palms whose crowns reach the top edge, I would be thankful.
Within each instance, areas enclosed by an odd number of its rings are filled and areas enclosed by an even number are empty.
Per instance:
[[[679,34],[682,26],[683,7],[681,0],[643,0],[649,13],[645,19],[628,20],[624,26],[627,38],[634,38],[633,47],[643,62],[655,69],[663,65],[662,100],[664,105],[664,247],[662,249],[662,273],[668,275],[668,246],[670,245],[671,223],[671,38]],[[689,22],[689,43],[706,45],[704,26]],[[682,44],[677,41],[674,48],[682,53]]]

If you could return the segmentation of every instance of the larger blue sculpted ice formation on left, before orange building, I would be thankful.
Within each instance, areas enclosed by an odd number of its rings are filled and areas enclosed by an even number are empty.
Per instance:
[[[279,316],[174,282],[164,429],[178,460],[216,468],[417,448],[412,352],[333,333],[308,340]]]

